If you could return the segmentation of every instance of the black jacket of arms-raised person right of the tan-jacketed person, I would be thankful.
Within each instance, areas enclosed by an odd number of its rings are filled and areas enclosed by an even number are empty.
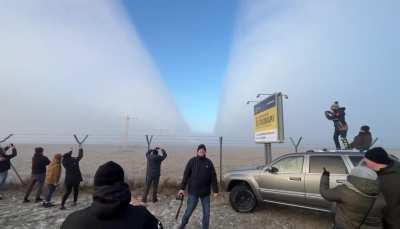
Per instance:
[[[79,149],[78,157],[72,157],[72,151],[63,155],[62,164],[65,168],[65,184],[77,185],[82,179],[79,161],[83,158],[83,149]]]

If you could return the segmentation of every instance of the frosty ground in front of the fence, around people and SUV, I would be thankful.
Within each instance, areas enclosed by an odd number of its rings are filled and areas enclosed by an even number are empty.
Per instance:
[[[57,207],[42,208],[39,204],[22,204],[22,192],[9,191],[6,198],[0,201],[0,225],[2,229],[34,228],[53,229],[59,228],[64,219],[71,212],[89,206],[91,196],[84,193],[80,196],[79,204],[76,207],[68,207],[61,211]],[[138,199],[139,196],[136,196]],[[135,199],[135,200],[136,200]],[[60,197],[55,197],[59,203]],[[134,201],[137,204],[137,201]],[[174,228],[175,214],[179,202],[173,195],[161,195],[160,201],[156,204],[147,204],[148,209],[157,216],[163,223],[164,228]],[[182,208],[182,217],[185,205]],[[325,213],[317,213],[296,208],[263,205],[258,207],[251,214],[239,214],[231,209],[228,198],[219,196],[212,200],[211,226],[210,228],[318,228],[328,229],[331,223],[331,216]],[[201,205],[198,206],[191,218],[189,229],[201,228]]]

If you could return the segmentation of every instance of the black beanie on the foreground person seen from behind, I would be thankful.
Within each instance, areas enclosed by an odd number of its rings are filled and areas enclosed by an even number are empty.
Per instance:
[[[123,181],[124,170],[113,161],[101,165],[94,175],[94,186],[113,185]]]

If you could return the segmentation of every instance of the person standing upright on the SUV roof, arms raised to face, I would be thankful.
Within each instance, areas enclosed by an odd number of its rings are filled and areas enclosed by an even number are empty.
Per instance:
[[[328,120],[333,121],[335,132],[333,134],[333,141],[335,142],[336,149],[340,150],[339,136],[346,139],[347,137],[347,123],[345,118],[345,107],[340,107],[339,102],[335,101],[330,111],[325,111],[325,116]]]

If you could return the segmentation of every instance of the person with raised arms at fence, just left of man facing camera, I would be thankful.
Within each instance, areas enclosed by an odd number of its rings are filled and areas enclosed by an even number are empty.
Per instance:
[[[162,155],[158,154],[158,151],[162,151]],[[157,190],[158,183],[160,182],[161,175],[161,163],[167,158],[167,152],[159,147],[154,150],[149,150],[146,153],[147,158],[147,176],[146,176],[146,188],[144,191],[142,201],[147,202],[147,195],[149,194],[150,187],[153,185],[153,203],[157,202]]]

